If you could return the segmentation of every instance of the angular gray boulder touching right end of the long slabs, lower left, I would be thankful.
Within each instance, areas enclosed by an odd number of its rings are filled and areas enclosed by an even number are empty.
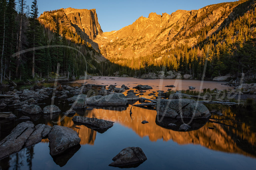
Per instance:
[[[48,134],[50,154],[58,155],[67,149],[79,145],[81,139],[71,128],[54,125]]]

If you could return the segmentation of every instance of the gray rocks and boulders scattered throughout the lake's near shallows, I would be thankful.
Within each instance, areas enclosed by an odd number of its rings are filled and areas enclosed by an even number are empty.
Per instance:
[[[19,118],[20,120],[26,121],[31,118],[32,121],[36,121],[39,119],[38,116],[40,117],[41,115],[43,115],[44,118],[47,118],[49,116],[57,117],[61,113],[61,110],[56,105],[49,105],[43,108],[40,107],[40,101],[48,98],[50,99],[49,96],[53,96],[53,94],[54,97],[51,97],[51,100],[58,98],[70,102],[70,109],[65,112],[65,115],[70,117],[73,117],[78,110],[92,110],[93,108],[100,107],[127,108],[130,102],[134,103],[134,101],[139,101],[141,104],[135,104],[133,106],[156,110],[156,120],[162,119],[161,123],[156,121],[156,124],[176,131],[198,129],[209,120],[211,114],[217,114],[217,111],[209,111],[204,104],[193,100],[193,98],[201,99],[204,98],[204,96],[183,94],[180,93],[180,91],[177,91],[174,94],[169,94],[168,91],[162,90],[150,91],[150,89],[153,88],[148,85],[137,85],[133,87],[134,90],[125,85],[122,85],[120,88],[116,87],[116,85],[109,85],[108,87],[105,85],[87,83],[80,85],[80,87],[59,85],[55,89],[41,87],[33,90],[16,90],[10,88],[10,91],[1,95],[1,108],[15,108],[26,115],[23,116],[22,119]],[[175,87],[173,85],[166,86],[170,88]],[[93,88],[98,88],[98,95],[95,95],[94,92],[91,93],[92,91],[90,92]],[[148,92],[147,90],[151,92],[148,96],[154,96],[153,100],[141,97],[141,95]],[[125,92],[126,95],[123,94],[123,92]],[[205,98],[207,98],[207,96],[205,96]],[[132,110],[130,111],[130,115],[131,114]],[[219,114],[219,116],[221,116],[221,114]],[[12,121],[16,119],[16,116],[12,112],[2,112],[0,113],[0,119]],[[183,119],[195,119],[196,121],[189,125],[178,123]],[[72,121],[77,125],[84,125],[99,133],[106,132],[106,130],[114,125],[114,122],[111,121],[82,116],[74,116]],[[142,121],[142,124],[146,123],[149,122],[146,120]],[[80,148],[77,146],[81,139],[77,132],[71,128],[57,125],[51,127],[45,124],[35,125],[33,122],[26,121],[18,124],[12,132],[0,142],[0,160],[13,153],[19,152],[23,148],[33,146],[45,138],[48,138],[50,141],[50,155],[53,157],[68,152],[70,148]],[[134,147],[126,148],[125,152],[129,155],[132,153],[130,151],[134,151],[134,149]],[[142,151],[138,148],[135,150]],[[114,163],[111,163],[110,166],[137,166],[146,160],[144,157],[145,154],[143,154],[139,154],[142,158],[140,156],[135,156],[128,162],[126,159],[127,155],[118,156],[120,157],[120,160],[117,161],[117,158],[113,158]]]

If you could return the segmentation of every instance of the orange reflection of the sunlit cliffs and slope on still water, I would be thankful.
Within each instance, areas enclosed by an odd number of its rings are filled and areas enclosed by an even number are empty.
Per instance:
[[[155,110],[132,107],[132,114],[130,115],[130,109],[131,105],[127,108],[115,108],[113,110],[94,109],[92,111],[86,111],[85,113],[79,112],[79,114],[77,113],[76,115],[114,121],[114,125],[118,123],[130,128],[142,138],[148,136],[152,142],[159,139],[163,139],[164,141],[173,140],[180,145],[195,144],[217,151],[239,153],[246,156],[256,157],[255,129],[252,129],[247,123],[244,123],[244,119],[242,119],[241,122],[239,119],[239,121],[234,120],[232,117],[237,115],[233,113],[230,108],[223,110],[225,117],[221,118],[212,115],[210,121],[206,124],[204,123],[205,125],[202,124],[202,127],[198,127],[199,129],[189,132],[178,132],[172,129],[167,129],[165,126],[162,127],[164,122],[157,121]],[[59,119],[60,118],[61,116],[59,116]],[[81,145],[93,145],[94,141],[97,140],[97,133],[86,126],[75,125],[71,119],[72,118],[70,117],[66,117],[63,121],[57,124],[75,130],[81,138]],[[143,120],[146,120],[149,123],[142,124],[141,122]],[[52,123],[48,124],[51,126],[54,125]],[[214,127],[215,129],[208,129],[208,127]],[[47,142],[48,140],[45,139],[43,141]],[[248,149],[247,147],[251,149]]]

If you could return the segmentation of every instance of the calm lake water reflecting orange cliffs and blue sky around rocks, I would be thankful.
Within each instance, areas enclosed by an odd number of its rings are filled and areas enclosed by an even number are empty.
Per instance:
[[[164,87],[166,85],[175,85],[178,90],[187,90],[188,86],[194,86],[196,90],[229,88],[221,85],[223,82],[212,81],[93,78],[95,80],[77,80],[62,84],[81,86],[83,82],[104,85],[116,83],[117,87],[125,84],[131,89],[137,84],[150,85],[153,89],[146,90],[143,95],[146,98],[153,98],[147,95],[152,91],[159,89],[166,91],[168,89]],[[95,89],[96,92],[97,90]],[[126,92],[124,94],[126,95]],[[69,102],[60,101],[63,100],[56,99],[55,104],[62,112],[69,110]],[[40,103],[46,103],[41,105],[43,108],[50,104],[50,98]],[[43,115],[31,117],[35,125],[44,123],[72,128],[81,138],[81,147],[74,149],[72,153],[52,158],[49,154],[49,141],[44,139],[33,147],[25,148],[1,160],[0,169],[118,169],[108,165],[113,162],[112,158],[126,147],[140,147],[147,156],[147,160],[136,169],[198,170],[253,169],[256,167],[255,112],[226,107],[222,111],[223,116],[212,115],[211,119],[201,128],[189,132],[178,132],[166,128],[166,122],[158,122],[155,110],[132,107],[131,104],[134,103],[130,103],[127,108],[95,108],[91,111],[77,111],[76,115],[115,121],[114,126],[103,134],[83,125],[75,125],[72,117],[63,117],[62,113],[55,115],[53,119]],[[131,107],[132,116],[130,116]],[[0,111],[13,111],[17,118],[23,115],[22,112],[8,107]],[[59,121],[62,118],[64,119]],[[142,124],[143,120],[149,123]],[[6,137],[19,123],[18,121],[2,123],[0,139]]]

